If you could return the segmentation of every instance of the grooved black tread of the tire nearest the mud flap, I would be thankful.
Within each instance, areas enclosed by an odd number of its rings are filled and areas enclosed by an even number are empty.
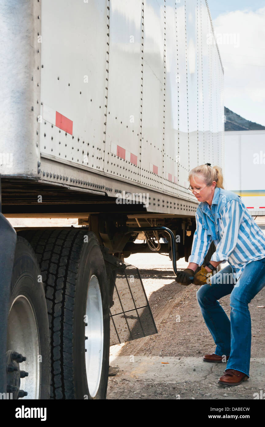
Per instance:
[[[51,398],[75,399],[73,383],[73,310],[85,228],[18,232],[40,264],[51,337]]]

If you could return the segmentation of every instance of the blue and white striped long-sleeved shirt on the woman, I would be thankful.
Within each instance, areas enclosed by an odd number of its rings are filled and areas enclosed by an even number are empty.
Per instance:
[[[196,231],[189,263],[201,266],[211,242],[216,250],[212,261],[226,261],[238,281],[245,266],[265,258],[265,235],[233,191],[215,187],[211,207],[201,202],[195,213]]]

